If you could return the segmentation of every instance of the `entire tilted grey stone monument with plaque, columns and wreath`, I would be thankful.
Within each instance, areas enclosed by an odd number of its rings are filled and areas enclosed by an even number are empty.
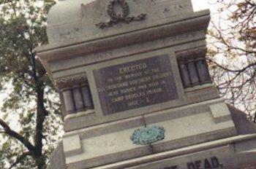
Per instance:
[[[49,168],[253,168],[255,126],[208,73],[209,20],[190,0],[53,6],[38,55],[59,89],[65,134]]]

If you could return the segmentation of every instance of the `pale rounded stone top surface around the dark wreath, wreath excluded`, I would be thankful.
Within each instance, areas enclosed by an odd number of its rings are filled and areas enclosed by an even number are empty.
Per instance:
[[[129,26],[127,26],[127,23],[120,23],[102,31],[102,29],[97,28],[96,24],[109,20],[110,17],[106,10],[108,1],[59,1],[50,10],[48,16],[50,44],[65,44],[67,40],[69,42],[89,41],[106,35],[124,34],[136,29],[146,28],[148,25],[157,25],[165,22],[165,20],[170,22],[179,15],[192,13],[190,0],[127,0],[127,3],[129,4],[129,16],[137,16],[143,13],[146,14],[146,20],[129,23]]]

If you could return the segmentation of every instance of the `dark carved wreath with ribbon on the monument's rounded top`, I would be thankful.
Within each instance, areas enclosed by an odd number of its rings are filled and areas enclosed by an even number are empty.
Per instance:
[[[117,14],[114,10],[116,5],[120,5],[122,9],[122,14]],[[146,19],[146,14],[140,14],[138,16],[128,17],[129,15],[129,5],[125,0],[110,0],[107,6],[107,12],[110,16],[108,22],[99,22],[96,24],[98,28],[108,28],[118,23],[131,23],[132,21],[140,21]]]

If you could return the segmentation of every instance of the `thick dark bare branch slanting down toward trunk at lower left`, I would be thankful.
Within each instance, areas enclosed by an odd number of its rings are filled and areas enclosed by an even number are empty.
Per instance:
[[[0,125],[4,128],[4,131],[7,135],[16,138],[18,141],[20,141],[20,143],[26,146],[26,148],[29,149],[30,152],[34,152],[34,146],[29,142],[28,139],[24,138],[22,135],[12,130],[10,126],[7,125],[7,123],[4,122],[4,120],[2,119],[0,119]]]

